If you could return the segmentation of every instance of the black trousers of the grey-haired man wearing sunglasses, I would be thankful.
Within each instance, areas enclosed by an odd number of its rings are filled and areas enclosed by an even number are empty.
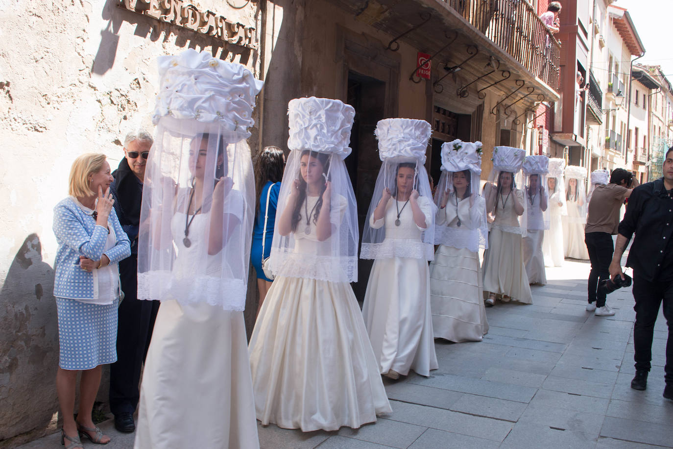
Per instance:
[[[125,297],[119,306],[117,361],[110,365],[110,410],[135,413],[140,399],[140,373],[152,337],[158,301],[138,300],[138,258],[131,254],[119,263],[119,277]]]

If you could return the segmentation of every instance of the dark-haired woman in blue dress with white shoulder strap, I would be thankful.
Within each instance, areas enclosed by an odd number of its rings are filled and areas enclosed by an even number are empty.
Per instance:
[[[255,191],[258,198],[254,228],[252,228],[250,261],[257,272],[257,288],[259,289],[257,313],[262,308],[264,298],[267,297],[267,291],[269,291],[271,282],[273,282],[273,279],[269,279],[264,275],[262,261],[271,254],[273,224],[276,220],[278,194],[281,191],[284,166],[285,156],[283,155],[283,150],[274,146],[264,147],[254,162]],[[263,255],[262,252],[264,252]]]

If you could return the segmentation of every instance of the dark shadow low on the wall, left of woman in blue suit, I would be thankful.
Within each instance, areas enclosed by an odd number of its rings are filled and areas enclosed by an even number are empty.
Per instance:
[[[55,428],[59,331],[53,289],[54,270],[42,261],[40,238],[30,234],[0,290],[0,447]]]

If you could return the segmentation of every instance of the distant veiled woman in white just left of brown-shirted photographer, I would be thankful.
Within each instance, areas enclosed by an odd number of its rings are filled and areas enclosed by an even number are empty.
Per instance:
[[[587,221],[587,202],[584,180],[586,169],[578,166],[565,168],[565,202],[568,215],[563,220],[563,246],[566,257],[589,260],[584,243],[584,225]]]

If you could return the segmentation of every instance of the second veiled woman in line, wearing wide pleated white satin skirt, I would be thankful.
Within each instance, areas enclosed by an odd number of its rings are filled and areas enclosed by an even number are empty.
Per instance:
[[[271,250],[275,279],[249,349],[262,425],[332,431],[391,411],[349,285],[357,280],[358,232],[343,158],[354,115],[339,100],[289,102],[292,151]]]

